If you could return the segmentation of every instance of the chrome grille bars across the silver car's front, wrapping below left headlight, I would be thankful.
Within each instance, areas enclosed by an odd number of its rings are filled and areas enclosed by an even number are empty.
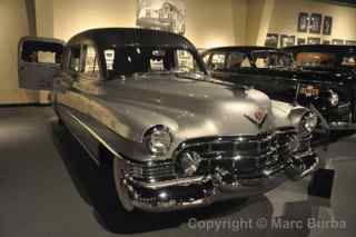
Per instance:
[[[246,170],[260,169],[277,164],[279,157],[289,151],[289,140],[280,139],[286,138],[287,135],[296,135],[296,130],[291,128],[256,136],[191,139],[182,142],[176,149],[172,159],[150,162],[130,161],[127,171],[130,177],[142,181],[175,179],[180,177],[177,174],[179,171],[176,170],[177,158],[180,154],[187,151],[199,154],[207,166],[221,161],[227,162],[225,166],[235,169],[236,160],[241,160],[241,164],[245,162],[248,166]],[[300,140],[308,140],[308,138],[300,138]],[[207,168],[205,174],[197,175],[211,175],[211,169]]]

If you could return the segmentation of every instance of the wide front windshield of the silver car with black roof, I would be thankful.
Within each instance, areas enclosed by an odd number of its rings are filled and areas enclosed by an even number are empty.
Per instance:
[[[123,47],[103,50],[108,76],[202,73],[194,55],[180,48]]]

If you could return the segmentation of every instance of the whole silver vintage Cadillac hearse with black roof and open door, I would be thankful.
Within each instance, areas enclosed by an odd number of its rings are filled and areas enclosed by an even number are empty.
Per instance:
[[[19,80],[51,91],[60,124],[99,167],[112,167],[122,213],[249,197],[318,168],[313,112],[209,78],[181,36],[95,29],[68,43],[26,37]]]

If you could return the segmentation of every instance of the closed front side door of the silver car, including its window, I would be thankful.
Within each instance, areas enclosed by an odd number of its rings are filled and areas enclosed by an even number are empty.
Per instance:
[[[62,79],[59,87],[63,90],[56,92],[58,112],[91,158],[97,159],[99,142],[90,125],[92,111],[98,107],[96,96],[101,80],[98,53],[93,46],[83,43],[69,46],[68,51],[65,75],[69,76],[69,81]]]

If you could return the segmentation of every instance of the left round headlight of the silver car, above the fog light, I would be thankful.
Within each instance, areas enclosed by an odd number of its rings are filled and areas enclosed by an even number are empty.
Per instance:
[[[145,142],[152,155],[164,156],[169,151],[172,136],[167,127],[159,125],[146,132]]]

